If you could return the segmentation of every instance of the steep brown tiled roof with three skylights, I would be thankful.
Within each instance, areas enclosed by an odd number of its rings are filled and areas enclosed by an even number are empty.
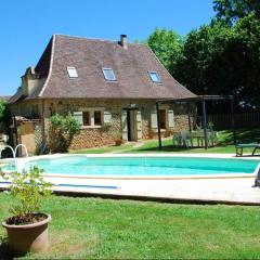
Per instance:
[[[77,69],[69,78],[67,67]],[[116,81],[105,80],[102,68],[113,68]],[[157,72],[161,83],[151,80]],[[36,66],[47,75],[43,87],[26,99],[182,99],[191,91],[177,82],[144,44],[128,43],[125,50],[117,41],[54,35]],[[48,73],[49,72],[49,73]]]

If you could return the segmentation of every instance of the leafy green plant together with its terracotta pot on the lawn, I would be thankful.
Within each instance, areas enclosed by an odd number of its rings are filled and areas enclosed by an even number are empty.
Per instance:
[[[12,217],[2,222],[6,229],[11,249],[24,255],[28,251],[42,251],[49,245],[48,223],[51,216],[39,211],[43,197],[51,194],[51,183],[42,177],[43,170],[32,167],[28,171],[5,173],[0,176],[11,182],[10,194],[16,202],[11,206]]]

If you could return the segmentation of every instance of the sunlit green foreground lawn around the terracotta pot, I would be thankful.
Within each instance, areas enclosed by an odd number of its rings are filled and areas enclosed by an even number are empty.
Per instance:
[[[0,194],[0,219],[10,198]],[[259,259],[260,208],[53,196],[51,246],[35,259]],[[0,229],[0,236],[5,231]],[[0,246],[0,259],[10,259]]]

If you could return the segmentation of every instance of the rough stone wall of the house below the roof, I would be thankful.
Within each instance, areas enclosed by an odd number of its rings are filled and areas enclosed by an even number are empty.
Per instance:
[[[37,110],[39,117],[43,118],[41,130],[42,135],[44,132],[47,140],[49,119],[55,112],[65,115],[68,112],[74,113],[87,108],[102,108],[103,110],[109,110],[112,114],[112,121],[109,125],[103,125],[99,128],[82,127],[80,133],[74,138],[70,145],[70,148],[88,148],[114,145],[116,135],[120,134],[122,131],[122,108],[134,106],[134,104],[141,110],[142,115],[142,139],[157,138],[157,130],[151,127],[151,112],[155,109],[155,101],[153,100],[46,100],[44,102],[34,101],[12,105],[11,110],[14,115],[25,117],[31,115],[31,110]],[[35,108],[32,109],[32,107]],[[174,112],[174,125],[171,128],[162,130],[164,136],[170,136],[174,132],[188,131],[186,106],[170,104],[162,105],[161,107]],[[37,133],[37,139],[40,139],[39,131]]]

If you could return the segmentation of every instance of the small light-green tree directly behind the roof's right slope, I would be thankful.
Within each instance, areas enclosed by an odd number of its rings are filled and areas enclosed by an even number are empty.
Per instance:
[[[146,43],[154,51],[159,61],[170,72],[174,72],[176,63],[182,54],[183,37],[173,30],[156,28]]]

